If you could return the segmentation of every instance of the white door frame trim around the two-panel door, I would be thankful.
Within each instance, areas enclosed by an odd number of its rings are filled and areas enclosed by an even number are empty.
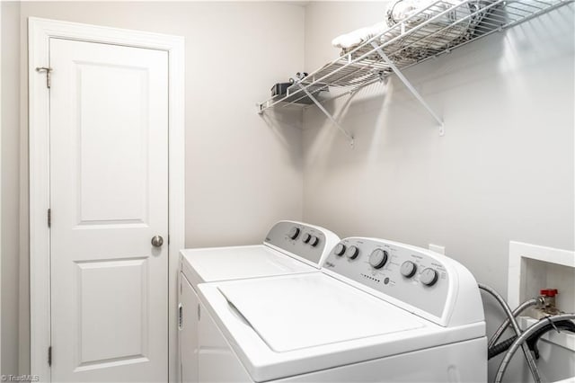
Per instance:
[[[51,381],[49,209],[49,39],[81,40],[168,53],[168,377],[177,376],[177,268],[184,247],[184,39],[77,22],[28,19],[31,374]],[[57,351],[55,351],[57,354]]]

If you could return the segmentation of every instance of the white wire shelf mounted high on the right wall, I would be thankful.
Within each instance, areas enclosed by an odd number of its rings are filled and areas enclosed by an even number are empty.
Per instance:
[[[341,57],[315,70],[288,93],[258,103],[260,112],[326,101],[380,81],[407,67],[437,57],[473,40],[502,31],[574,0],[438,0]],[[331,87],[335,96],[322,98]]]

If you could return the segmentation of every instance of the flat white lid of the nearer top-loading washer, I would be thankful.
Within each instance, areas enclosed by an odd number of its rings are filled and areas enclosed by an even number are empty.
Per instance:
[[[274,352],[424,327],[398,307],[331,277],[243,281],[218,287]]]

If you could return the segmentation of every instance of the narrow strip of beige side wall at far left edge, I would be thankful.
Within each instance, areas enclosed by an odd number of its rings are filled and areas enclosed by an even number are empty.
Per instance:
[[[2,3],[2,374],[18,367],[20,273],[20,4]]]

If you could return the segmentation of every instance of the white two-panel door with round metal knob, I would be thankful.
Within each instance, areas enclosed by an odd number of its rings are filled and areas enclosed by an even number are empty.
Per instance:
[[[52,38],[49,61],[52,381],[165,382],[168,54]]]

